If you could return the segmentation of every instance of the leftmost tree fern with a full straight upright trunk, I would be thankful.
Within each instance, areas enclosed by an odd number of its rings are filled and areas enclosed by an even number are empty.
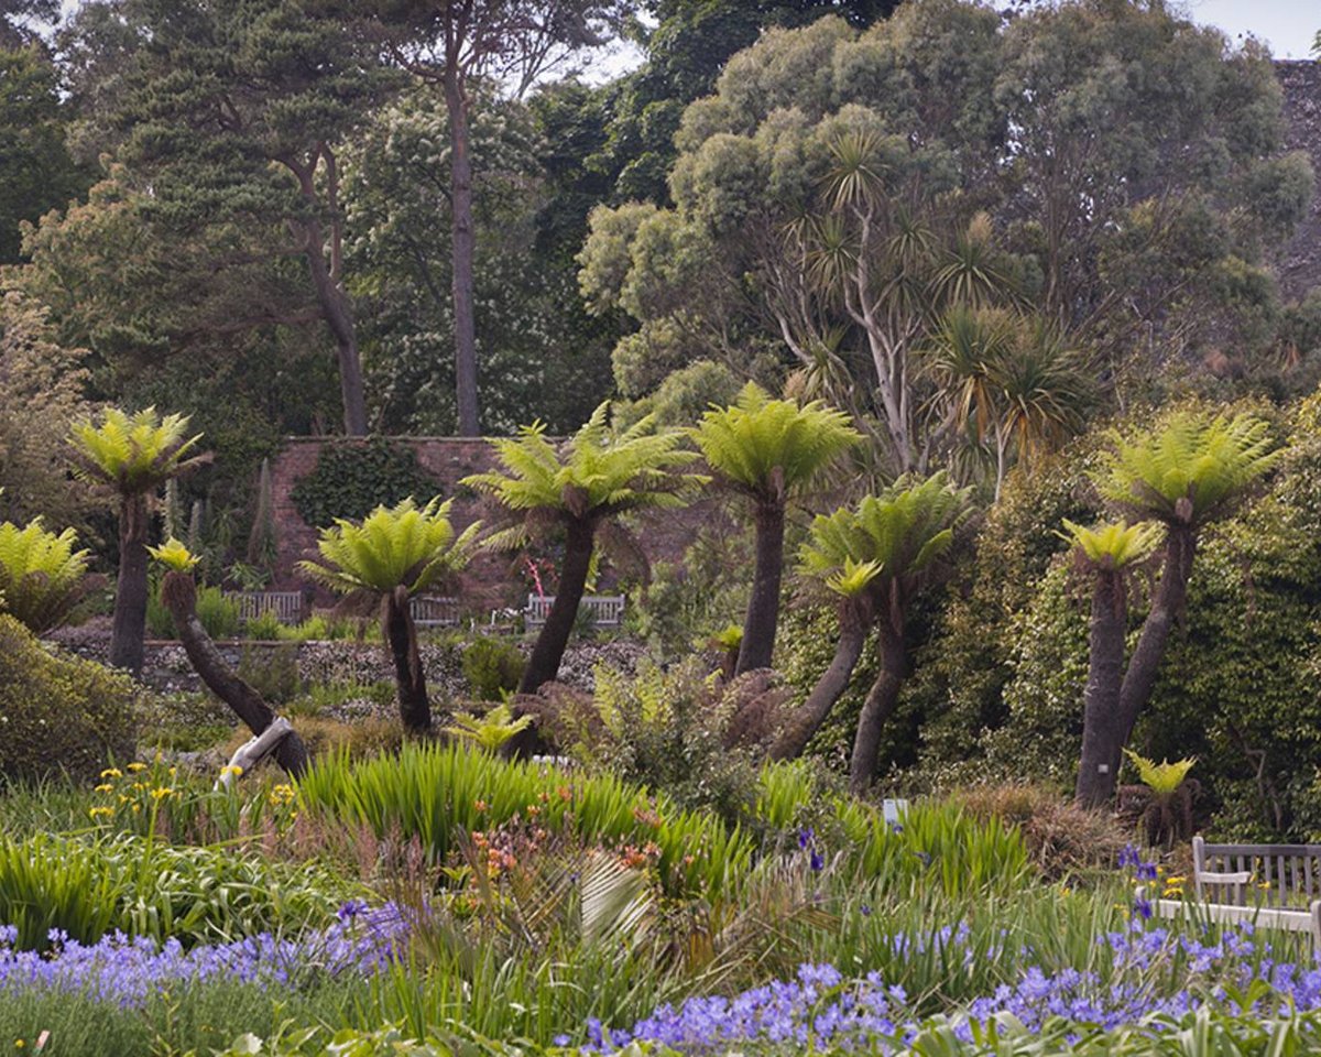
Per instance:
[[[75,423],[71,461],[79,477],[119,503],[119,577],[110,634],[110,663],[135,675],[143,667],[147,628],[147,532],[151,501],[161,486],[209,462],[197,453],[201,433],[188,435],[186,415],[155,407],[127,415],[107,408],[99,421]]]

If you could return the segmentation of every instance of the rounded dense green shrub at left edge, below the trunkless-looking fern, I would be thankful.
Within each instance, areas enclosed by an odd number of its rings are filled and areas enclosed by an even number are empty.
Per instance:
[[[0,614],[0,773],[95,776],[133,750],[137,691],[91,661],[48,651]]]

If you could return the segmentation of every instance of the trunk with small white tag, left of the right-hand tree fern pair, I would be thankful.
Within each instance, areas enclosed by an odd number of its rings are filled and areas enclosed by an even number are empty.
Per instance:
[[[1074,786],[1074,797],[1082,807],[1103,807],[1115,795],[1119,756],[1125,740],[1119,688],[1124,679],[1127,612],[1122,573],[1098,569],[1091,596],[1082,757]]]

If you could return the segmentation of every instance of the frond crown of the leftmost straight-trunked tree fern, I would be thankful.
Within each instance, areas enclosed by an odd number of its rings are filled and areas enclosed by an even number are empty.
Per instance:
[[[107,408],[100,421],[70,429],[74,469],[79,477],[115,495],[145,495],[210,460],[193,455],[202,435],[188,435],[186,415],[161,418],[155,407],[127,415]]]

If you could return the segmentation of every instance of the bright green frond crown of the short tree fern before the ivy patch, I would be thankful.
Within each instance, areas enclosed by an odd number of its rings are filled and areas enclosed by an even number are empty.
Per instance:
[[[361,523],[337,519],[321,530],[320,559],[300,562],[312,580],[342,595],[387,595],[403,587],[410,596],[468,562],[480,525],[456,536],[449,502],[432,499],[419,507],[412,498],[378,506]]]

